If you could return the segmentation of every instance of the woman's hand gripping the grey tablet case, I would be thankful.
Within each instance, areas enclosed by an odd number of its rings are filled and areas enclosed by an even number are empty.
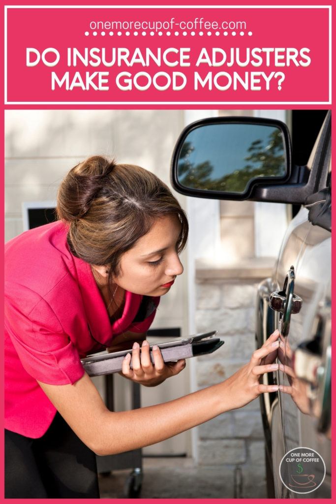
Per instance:
[[[132,348],[132,357],[128,353],[122,361],[122,371],[120,374],[140,383],[146,387],[155,387],[164,382],[169,376],[178,374],[185,368],[185,359],[180,359],[177,362],[163,361],[159,347],[153,347],[154,364],[152,364],[149,352],[149,343],[143,341],[140,352],[139,343],[134,343]],[[132,358],[132,369],[130,368],[130,359]]]

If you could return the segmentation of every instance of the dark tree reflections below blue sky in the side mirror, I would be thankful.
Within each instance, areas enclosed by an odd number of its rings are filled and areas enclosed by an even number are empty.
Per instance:
[[[217,179],[212,177],[214,167],[209,160],[197,165],[189,161],[188,158],[194,149],[190,142],[185,142],[179,157],[179,180],[186,187],[242,193],[254,177],[285,175],[283,139],[278,129],[268,136],[266,146],[260,139],[251,143],[247,149],[248,155],[243,158],[247,161],[245,166]]]

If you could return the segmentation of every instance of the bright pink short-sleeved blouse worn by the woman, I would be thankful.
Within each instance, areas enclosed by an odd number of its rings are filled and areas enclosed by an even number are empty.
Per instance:
[[[5,428],[33,438],[56,412],[36,380],[74,384],[84,374],[82,357],[125,331],[146,332],[160,299],[135,322],[143,296],[126,291],[122,316],[111,324],[90,265],[71,254],[66,234],[57,221],[5,247]]]

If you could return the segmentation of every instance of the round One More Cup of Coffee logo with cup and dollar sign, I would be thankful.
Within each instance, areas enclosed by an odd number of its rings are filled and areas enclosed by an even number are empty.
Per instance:
[[[293,448],[283,457],[279,474],[281,481],[291,492],[313,492],[325,478],[324,460],[311,448]]]

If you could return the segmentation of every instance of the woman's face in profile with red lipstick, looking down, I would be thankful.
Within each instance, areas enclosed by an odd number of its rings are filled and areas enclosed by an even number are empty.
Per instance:
[[[120,274],[113,281],[135,294],[166,294],[183,266],[177,254],[181,223],[176,215],[157,219],[150,231],[121,257]]]

